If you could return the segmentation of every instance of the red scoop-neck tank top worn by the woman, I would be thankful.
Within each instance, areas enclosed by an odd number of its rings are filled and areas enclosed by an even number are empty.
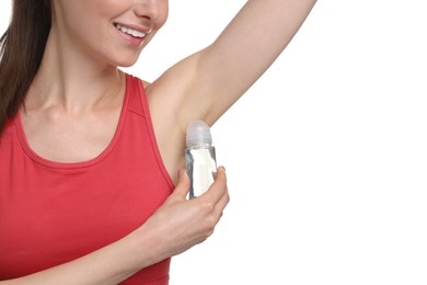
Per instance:
[[[161,160],[141,80],[126,76],[116,133],[96,158],[46,160],[20,115],[0,137],[0,280],[78,259],[138,228],[174,185]],[[170,259],[122,284],[165,285]]]

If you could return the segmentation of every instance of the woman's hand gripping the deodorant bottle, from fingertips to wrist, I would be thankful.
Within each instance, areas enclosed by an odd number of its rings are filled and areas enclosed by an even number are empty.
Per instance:
[[[206,193],[188,201],[188,176],[180,171],[174,192],[140,228],[149,237],[143,242],[149,243],[152,258],[158,261],[205,241],[212,235],[229,203],[226,171],[221,167]]]

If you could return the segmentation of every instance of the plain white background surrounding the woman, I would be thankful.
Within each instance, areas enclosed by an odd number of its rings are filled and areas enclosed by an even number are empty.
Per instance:
[[[128,70],[149,81],[244,1],[170,2]],[[231,203],[210,239],[173,259],[171,284],[427,284],[425,11],[425,0],[318,2],[212,127]]]

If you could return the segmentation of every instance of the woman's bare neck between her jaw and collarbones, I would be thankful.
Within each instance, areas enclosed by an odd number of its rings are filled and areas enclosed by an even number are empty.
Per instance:
[[[55,105],[70,113],[86,112],[117,101],[124,86],[124,73],[117,67],[71,46],[53,26],[25,106]]]

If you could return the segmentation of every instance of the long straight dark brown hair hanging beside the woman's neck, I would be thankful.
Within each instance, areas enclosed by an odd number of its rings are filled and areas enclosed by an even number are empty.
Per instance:
[[[13,0],[0,38],[0,135],[16,115],[41,66],[51,25],[49,0]]]

